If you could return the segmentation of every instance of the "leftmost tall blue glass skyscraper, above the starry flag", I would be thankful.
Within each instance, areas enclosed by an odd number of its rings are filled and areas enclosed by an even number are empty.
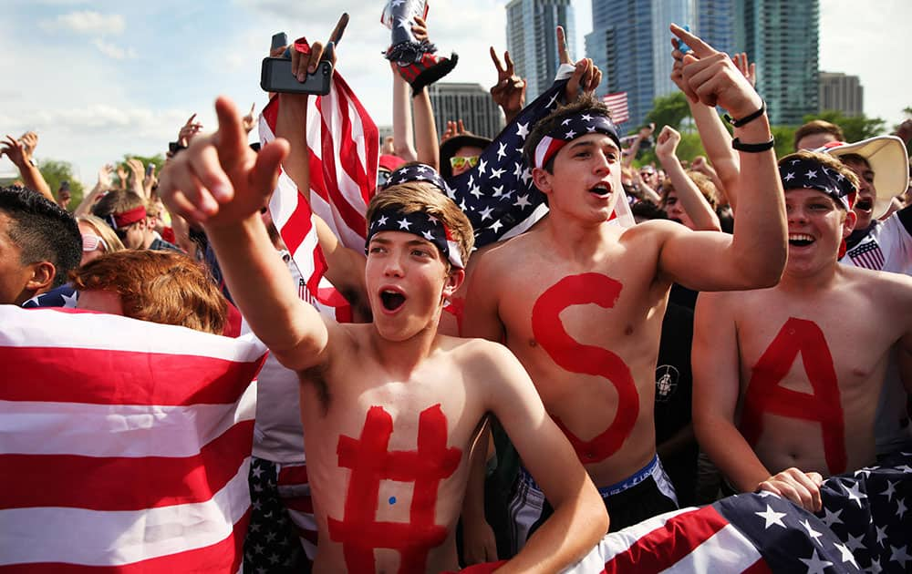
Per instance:
[[[507,49],[516,74],[526,81],[526,101],[554,83],[560,64],[554,29],[564,26],[574,58],[575,18],[571,0],[511,0],[507,10]]]

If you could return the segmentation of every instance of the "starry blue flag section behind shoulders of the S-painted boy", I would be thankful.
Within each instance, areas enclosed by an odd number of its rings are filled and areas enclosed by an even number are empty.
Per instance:
[[[555,81],[503,128],[482,151],[477,166],[448,182],[447,194],[472,221],[475,247],[519,235],[547,214],[544,194],[535,187],[532,168],[523,161],[523,143],[535,122],[557,108],[566,83],[566,77]],[[626,198],[618,198],[611,219],[634,225]]]

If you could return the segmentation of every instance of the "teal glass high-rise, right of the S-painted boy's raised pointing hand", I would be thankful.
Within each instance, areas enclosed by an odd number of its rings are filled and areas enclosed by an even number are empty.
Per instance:
[[[818,0],[737,0],[735,43],[757,63],[772,124],[798,125],[818,109]]]

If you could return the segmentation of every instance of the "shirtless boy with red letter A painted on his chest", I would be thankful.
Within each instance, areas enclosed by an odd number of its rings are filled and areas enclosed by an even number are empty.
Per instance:
[[[783,158],[780,173],[782,282],[697,303],[694,430],[731,487],[819,510],[821,476],[875,461],[888,352],[898,341],[900,362],[912,360],[912,279],[837,263],[855,224],[851,169],[803,151]]]

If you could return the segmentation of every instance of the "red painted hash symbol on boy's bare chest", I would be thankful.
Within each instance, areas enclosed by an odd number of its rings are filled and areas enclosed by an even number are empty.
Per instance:
[[[328,518],[329,538],[342,544],[349,572],[375,571],[374,549],[392,548],[401,557],[399,572],[423,572],[428,551],[447,538],[447,528],[434,524],[440,480],[459,466],[462,451],[447,448],[447,418],[440,405],[419,415],[418,450],[390,451],[393,419],[382,406],[372,406],[359,438],[339,436],[338,465],[350,468],[341,520]],[[409,522],[378,521],[381,480],[414,484]],[[389,499],[395,504],[395,498]]]

